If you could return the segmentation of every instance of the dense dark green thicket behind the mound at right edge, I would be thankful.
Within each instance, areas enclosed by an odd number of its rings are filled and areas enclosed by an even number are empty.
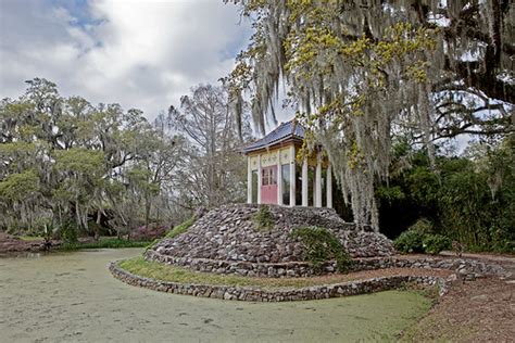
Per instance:
[[[377,190],[385,234],[399,236],[422,216],[464,251],[515,252],[515,135],[434,163],[427,151],[406,147],[402,139],[394,147],[391,178]]]

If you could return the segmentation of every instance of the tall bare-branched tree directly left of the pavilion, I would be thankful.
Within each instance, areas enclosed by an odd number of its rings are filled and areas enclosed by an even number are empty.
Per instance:
[[[246,163],[240,153],[241,139],[249,140],[250,126],[239,129],[230,111],[227,90],[200,85],[180,98],[180,107],[171,106],[172,127],[190,142],[186,156],[188,168],[180,174],[183,202],[217,206],[242,202]]]

